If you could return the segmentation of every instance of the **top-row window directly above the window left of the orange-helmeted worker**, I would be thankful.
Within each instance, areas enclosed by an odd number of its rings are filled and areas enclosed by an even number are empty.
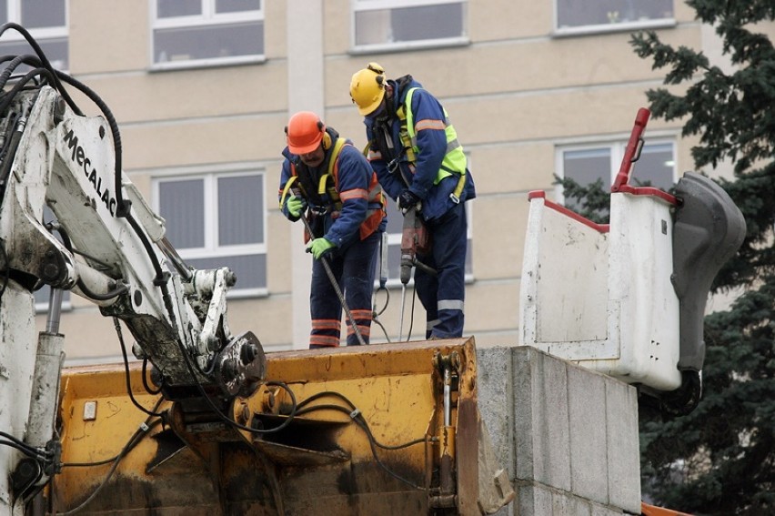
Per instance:
[[[156,0],[155,68],[230,65],[264,58],[261,0]]]

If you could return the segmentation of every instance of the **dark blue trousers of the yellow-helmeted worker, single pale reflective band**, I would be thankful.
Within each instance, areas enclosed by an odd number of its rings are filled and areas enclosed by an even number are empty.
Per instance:
[[[466,251],[468,221],[465,203],[458,203],[442,217],[426,223],[431,238],[428,255],[418,259],[437,271],[437,276],[415,269],[415,287],[426,310],[426,339],[462,337],[466,298]]]

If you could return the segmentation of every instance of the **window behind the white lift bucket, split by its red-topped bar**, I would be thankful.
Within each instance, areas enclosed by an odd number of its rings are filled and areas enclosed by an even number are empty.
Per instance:
[[[560,177],[569,177],[585,187],[602,179],[603,189],[609,191],[619,173],[621,158],[627,142],[562,147],[558,150],[557,169]],[[668,191],[675,183],[675,146],[671,141],[649,141],[640,151],[640,158],[629,173],[629,184],[649,184]],[[562,199],[559,192],[559,199]],[[572,206],[566,205],[570,208]]]

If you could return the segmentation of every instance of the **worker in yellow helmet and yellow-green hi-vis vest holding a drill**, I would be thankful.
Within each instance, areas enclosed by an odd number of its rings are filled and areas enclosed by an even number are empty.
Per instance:
[[[466,253],[465,202],[476,197],[463,147],[447,111],[412,76],[388,80],[369,63],[350,81],[350,96],[364,116],[368,160],[387,195],[406,214],[419,206],[432,246],[418,256],[438,276],[415,271],[426,309],[426,337],[463,333]]]

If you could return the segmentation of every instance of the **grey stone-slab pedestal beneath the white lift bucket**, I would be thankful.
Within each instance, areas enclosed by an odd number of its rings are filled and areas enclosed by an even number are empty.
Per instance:
[[[635,388],[525,346],[477,359],[479,412],[517,492],[498,516],[639,514]]]

